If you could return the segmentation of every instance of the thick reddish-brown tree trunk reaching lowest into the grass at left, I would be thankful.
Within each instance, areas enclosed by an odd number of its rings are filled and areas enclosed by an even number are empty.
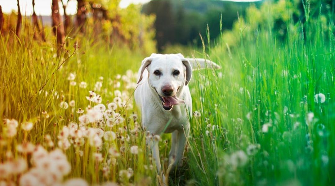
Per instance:
[[[52,25],[54,34],[57,37],[58,46],[63,46],[65,42],[64,25],[61,15],[59,14],[58,0],[52,0]]]

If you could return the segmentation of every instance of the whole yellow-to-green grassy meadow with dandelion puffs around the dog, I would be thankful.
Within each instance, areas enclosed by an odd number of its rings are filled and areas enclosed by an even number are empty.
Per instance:
[[[194,72],[170,185],[335,183],[335,27],[316,14],[288,19],[284,34],[240,17],[232,32],[202,36],[202,49],[170,49],[222,67]],[[160,141],[166,173],[170,134],[147,133],[133,98],[147,54],[66,42],[57,55],[28,33],[0,36],[0,185],[158,185],[145,139]]]

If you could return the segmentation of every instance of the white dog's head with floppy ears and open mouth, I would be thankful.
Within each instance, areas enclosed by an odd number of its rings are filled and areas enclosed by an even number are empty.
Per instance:
[[[152,54],[142,61],[140,68],[142,80],[145,69],[148,71],[148,83],[162,102],[165,110],[171,110],[173,105],[183,104],[178,98],[183,86],[186,86],[192,77],[190,62],[181,54]]]

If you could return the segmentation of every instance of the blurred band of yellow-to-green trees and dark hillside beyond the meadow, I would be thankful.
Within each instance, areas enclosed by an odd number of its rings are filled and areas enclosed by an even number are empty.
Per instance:
[[[69,1],[77,1],[76,15],[66,14]],[[52,26],[54,29],[57,27],[58,35],[62,34],[61,38],[103,38],[111,45],[126,45],[130,49],[152,53],[156,50],[169,51],[167,48],[177,45],[200,47],[199,34],[205,40],[223,39],[228,46],[233,47],[239,42],[241,24],[255,33],[259,29],[272,28],[273,34],[282,39],[287,29],[294,29],[294,24],[299,21],[304,23],[320,19],[325,29],[329,28],[328,23],[334,24],[332,15],[335,1],[332,0],[152,0],[143,6],[131,4],[126,8],[119,7],[120,1],[53,0],[59,4],[55,11],[59,14],[59,8],[62,8],[65,13],[60,17],[62,21],[56,20]],[[52,11],[53,14],[56,14],[55,11]],[[34,29],[35,39],[46,41],[42,17],[38,19],[34,11],[31,19],[34,26],[27,29]],[[18,15],[14,12],[4,14],[0,23],[3,34],[18,34],[21,27],[20,12]],[[292,26],[287,28],[287,25]],[[65,40],[60,39],[59,44]]]

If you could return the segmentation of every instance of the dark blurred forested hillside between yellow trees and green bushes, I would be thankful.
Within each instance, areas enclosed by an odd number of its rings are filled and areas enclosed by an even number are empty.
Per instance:
[[[261,3],[262,1],[152,0],[143,5],[142,12],[156,15],[157,48],[163,50],[166,44],[200,44],[199,33],[206,35],[207,24],[210,37],[216,38],[220,33],[221,14],[222,29],[231,29],[237,19],[237,12],[244,15],[248,6],[259,6]]]

